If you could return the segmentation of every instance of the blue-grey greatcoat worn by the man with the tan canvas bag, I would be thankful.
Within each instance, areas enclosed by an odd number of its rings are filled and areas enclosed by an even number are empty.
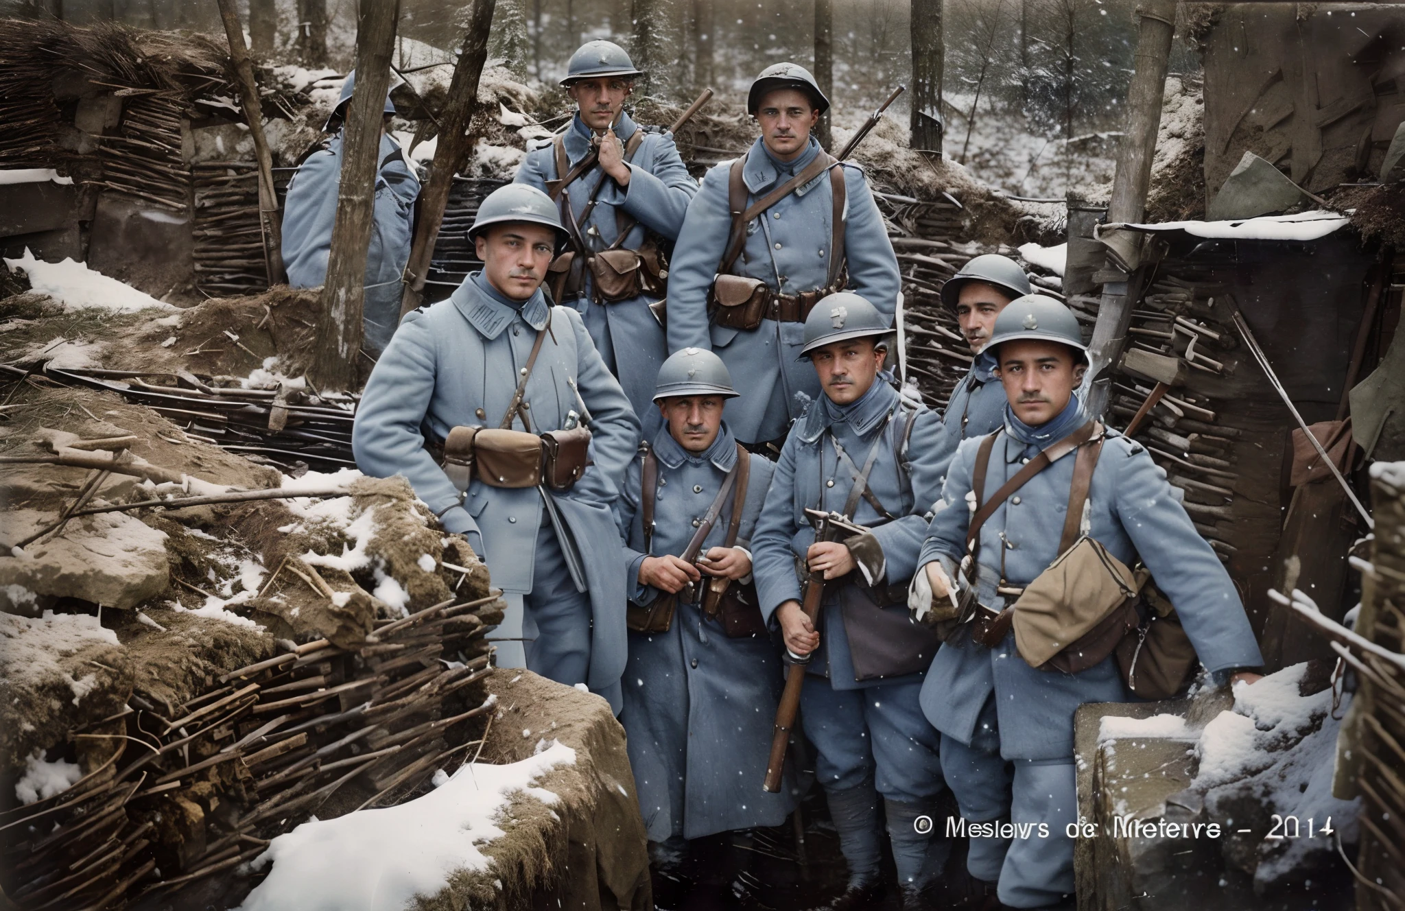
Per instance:
[[[919,565],[940,560],[948,576],[965,553],[971,512],[967,493],[979,439],[961,443],[947,472],[941,503],[927,529]],[[1002,432],[991,454],[985,496],[995,493],[1038,447]],[[1002,537],[1010,585],[1034,581],[1058,555],[1073,478],[1066,456],[1034,475],[981,529],[978,592],[982,605],[1005,606],[995,593]],[[1196,531],[1166,472],[1141,444],[1109,432],[1089,491],[1090,537],[1132,565],[1138,555],[1180,616],[1201,664],[1210,671],[1263,664],[1239,595],[1218,557]],[[943,734],[971,742],[976,717],[992,692],[1006,759],[1073,756],[1073,710],[1089,702],[1127,702],[1114,658],[1076,675],[1038,671],[1019,657],[1014,634],[993,650],[943,645],[927,671],[923,706]]]

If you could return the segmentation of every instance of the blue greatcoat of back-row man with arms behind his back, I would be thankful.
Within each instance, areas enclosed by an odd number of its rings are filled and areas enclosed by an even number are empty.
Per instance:
[[[757,139],[746,153],[743,172],[747,204],[804,170],[819,152],[812,138],[797,160],[783,164]],[[847,290],[868,298],[891,321],[901,285],[898,260],[864,173],[854,164],[843,169]],[[819,395],[819,381],[813,368],[798,360],[804,323],[766,319],[752,332],[710,325],[708,290],[732,229],[729,170],[731,163],[724,162],[707,173],[679,233],[669,270],[669,351],[715,351],[742,394],[728,405],[732,432],[743,443],[764,443],[784,436],[787,425]],[[746,226],[746,245],[732,273],[760,278],[783,294],[825,287],[833,236],[829,183],[826,172],[754,218]]]

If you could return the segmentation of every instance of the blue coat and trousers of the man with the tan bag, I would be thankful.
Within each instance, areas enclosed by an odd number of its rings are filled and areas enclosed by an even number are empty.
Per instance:
[[[1012,302],[1006,314],[1028,299]],[[1061,306],[1054,301],[1048,305]],[[999,326],[998,322],[992,347],[1000,337]],[[1076,396],[1061,415],[1038,427],[1023,425],[1007,412],[992,448],[982,496],[989,498],[1024,463],[1086,420]],[[967,550],[968,493],[979,446],[981,440],[971,439],[957,450],[917,561],[919,572],[926,564],[940,561],[948,578],[957,578],[957,564]],[[982,605],[999,609],[1007,603],[996,595],[1002,575],[1009,585],[1023,588],[1058,555],[1073,464],[1073,457],[1064,457],[1035,474],[981,527],[976,595]],[[1210,671],[1262,664],[1234,582],[1196,533],[1166,482],[1166,472],[1138,443],[1114,430],[1107,432],[1092,477],[1086,517],[1089,537],[1113,557],[1127,565],[1141,557],[1176,605],[1186,634]],[[1000,755],[1013,763],[1009,818],[1045,822],[1050,828],[1048,838],[1010,844],[999,869],[999,897],[1005,904],[1035,908],[1073,891],[1073,841],[1064,835],[1065,825],[1078,821],[1073,711],[1083,703],[1128,700],[1111,657],[1080,673],[1040,671],[1020,658],[1013,631],[998,647],[985,648],[971,640],[969,627],[958,630],[955,641],[939,650],[927,671],[923,707],[943,732],[943,742],[954,738],[979,747],[989,738],[982,724],[989,724],[993,714]],[[981,792],[975,800],[989,801],[995,784],[974,783]],[[948,784],[961,801],[960,789],[971,782],[955,776]]]

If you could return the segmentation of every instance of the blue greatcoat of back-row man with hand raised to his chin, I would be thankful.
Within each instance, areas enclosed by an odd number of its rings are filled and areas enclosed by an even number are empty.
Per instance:
[[[642,128],[629,119],[628,114],[620,115],[615,135],[621,143],[628,143],[636,129]],[[566,159],[572,167],[590,152],[590,128],[576,114],[565,134]],[[693,200],[698,186],[688,176],[683,159],[679,157],[679,149],[673,145],[673,134],[645,132],[628,167],[629,184],[627,187],[617,184],[599,164],[566,187],[572,215],[580,225],[582,238],[592,245],[593,250],[604,250],[620,238],[617,212],[638,222],[629,229],[629,236],[621,245],[627,250],[639,249],[646,236],[645,228],[674,240],[683,226],[683,215],[687,212],[688,201]],[[547,145],[527,153],[514,180],[545,193],[547,181],[561,177],[562,174],[556,173],[555,149]],[[590,212],[590,218],[582,221],[580,217],[597,184],[600,193],[596,194],[596,207]],[[589,235],[592,228],[599,232],[599,236]],[[629,396],[629,403],[634,405],[634,411],[645,422],[645,426],[652,427],[658,418],[658,408],[653,406],[653,378],[659,374],[659,366],[669,354],[663,326],[649,311],[649,304],[655,302],[656,298],[639,295],[617,304],[597,304],[592,299],[592,284],[587,269],[584,270],[583,295],[576,301],[561,301],[561,304],[580,311],[600,357],[620,378],[624,394]]]

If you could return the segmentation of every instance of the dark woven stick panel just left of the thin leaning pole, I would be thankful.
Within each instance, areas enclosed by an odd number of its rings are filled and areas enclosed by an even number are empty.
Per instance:
[[[194,183],[195,287],[211,297],[267,290],[259,166],[254,162],[195,164]]]

